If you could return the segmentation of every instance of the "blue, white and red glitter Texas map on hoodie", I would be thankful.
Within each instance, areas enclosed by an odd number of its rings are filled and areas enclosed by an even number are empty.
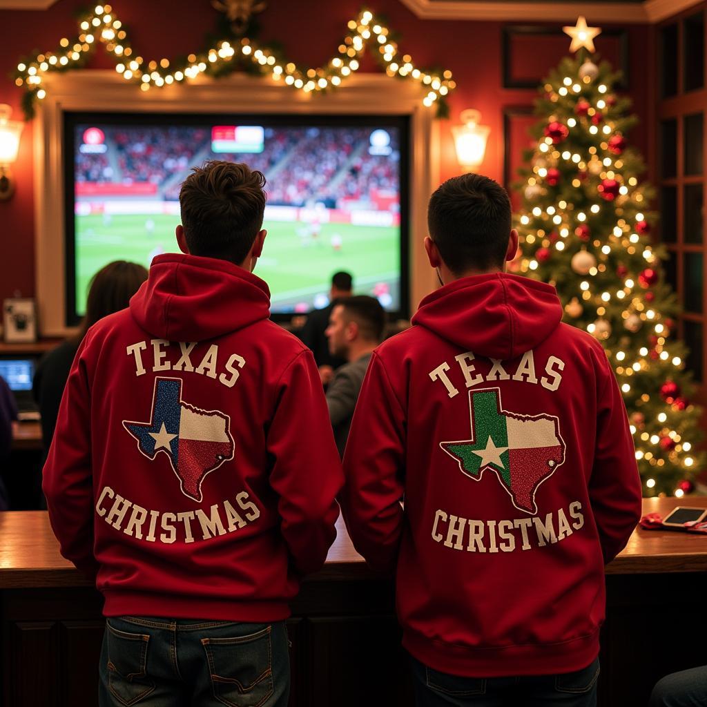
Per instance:
[[[123,426],[148,459],[154,460],[158,452],[169,457],[182,493],[194,501],[201,501],[206,474],[233,459],[230,417],[184,402],[181,378],[156,378],[151,421],[124,420]]]

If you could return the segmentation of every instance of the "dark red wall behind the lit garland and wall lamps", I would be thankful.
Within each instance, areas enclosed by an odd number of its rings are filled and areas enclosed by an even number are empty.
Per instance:
[[[20,57],[54,49],[58,40],[73,37],[76,13],[86,8],[86,0],[59,0],[47,11],[0,11],[0,103],[21,115],[21,89],[8,76]],[[203,46],[204,36],[214,29],[215,11],[206,0],[113,0],[114,13],[129,31],[132,46],[147,59],[178,57]],[[262,42],[281,42],[288,57],[298,64],[318,66],[334,56],[345,33],[346,22],[356,17],[360,0],[308,0],[287,3],[271,0],[259,17]],[[501,23],[474,21],[420,20],[399,0],[372,0],[370,9],[387,20],[397,33],[399,48],[412,55],[417,66],[451,69],[457,90],[450,95],[450,120],[443,121],[442,178],[460,172],[450,135],[450,124],[458,122],[467,107],[481,110],[484,123],[491,126],[486,159],[481,171],[503,179],[503,107],[530,105],[534,90],[503,88],[501,64]],[[653,145],[655,69],[653,30],[633,25],[629,32],[631,86],[629,95],[641,125],[633,132],[633,142],[644,153]],[[566,47],[569,46],[569,38]],[[548,54],[547,65],[561,59],[556,42],[538,42],[534,54]],[[99,47],[90,68],[111,67]],[[373,62],[366,70],[378,70]],[[391,79],[392,80],[392,79]],[[168,90],[168,89],[165,89]],[[325,97],[320,97],[326,100]],[[13,168],[17,191],[11,201],[0,201],[0,300],[20,291],[35,292],[35,235],[33,215],[33,126],[23,132],[20,154]],[[651,155],[646,155],[650,158]],[[652,161],[652,160],[650,160]]]

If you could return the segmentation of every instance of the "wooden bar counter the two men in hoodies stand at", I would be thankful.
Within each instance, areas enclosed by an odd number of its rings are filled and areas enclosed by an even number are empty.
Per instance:
[[[645,499],[643,512],[674,506],[707,498]],[[292,605],[290,703],[412,706],[392,582],[366,566],[341,519],[338,530]],[[707,664],[706,600],[707,536],[634,531],[607,566],[600,705],[643,707],[662,675]],[[0,602],[4,705],[95,706],[101,597],[59,555],[45,512],[0,514]]]

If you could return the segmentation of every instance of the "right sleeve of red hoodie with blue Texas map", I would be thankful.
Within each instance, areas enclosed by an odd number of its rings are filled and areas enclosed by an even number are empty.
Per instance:
[[[312,352],[303,350],[280,378],[267,449],[270,486],[279,495],[281,532],[298,571],[315,572],[337,536],[335,500],[343,475]]]

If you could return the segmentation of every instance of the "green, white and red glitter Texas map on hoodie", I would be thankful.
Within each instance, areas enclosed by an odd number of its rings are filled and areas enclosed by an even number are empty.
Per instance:
[[[535,492],[565,461],[559,420],[501,409],[501,389],[469,391],[472,438],[440,442],[464,474],[479,481],[492,469],[518,510],[537,513]]]

